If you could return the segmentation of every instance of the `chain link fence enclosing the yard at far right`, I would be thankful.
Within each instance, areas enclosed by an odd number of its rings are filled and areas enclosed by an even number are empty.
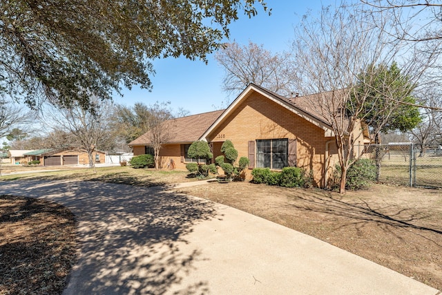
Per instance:
[[[442,146],[412,143],[356,146],[355,154],[372,159],[379,182],[410,187],[442,188]]]

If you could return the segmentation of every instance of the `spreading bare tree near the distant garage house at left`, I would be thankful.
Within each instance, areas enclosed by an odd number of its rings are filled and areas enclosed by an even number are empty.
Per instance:
[[[111,103],[102,102],[93,97],[90,99],[93,110],[85,110],[79,104],[69,108],[55,108],[48,106],[45,109],[45,124],[52,128],[52,132],[61,140],[59,147],[69,146],[84,149],[88,153],[89,166],[95,170],[93,152],[103,149],[110,137],[108,130],[111,114]],[[66,138],[66,140],[63,140]],[[54,138],[55,139],[55,138]]]

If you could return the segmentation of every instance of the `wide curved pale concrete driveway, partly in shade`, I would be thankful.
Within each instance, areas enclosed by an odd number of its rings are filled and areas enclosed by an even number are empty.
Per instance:
[[[440,294],[305,234],[200,198],[99,182],[0,182],[77,216],[64,294]]]

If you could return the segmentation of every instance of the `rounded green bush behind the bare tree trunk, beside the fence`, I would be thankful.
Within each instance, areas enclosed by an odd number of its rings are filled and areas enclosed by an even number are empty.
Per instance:
[[[339,185],[340,166],[336,165],[336,186]],[[356,160],[347,170],[347,178],[345,179],[345,187],[347,189],[367,189],[376,181],[376,164],[369,159]]]

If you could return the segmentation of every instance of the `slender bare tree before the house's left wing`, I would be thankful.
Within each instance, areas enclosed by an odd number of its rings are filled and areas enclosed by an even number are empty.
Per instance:
[[[170,102],[156,102],[149,107],[151,113],[148,120],[149,141],[154,151],[155,169],[161,168],[160,149],[162,145],[169,142],[173,135],[171,132],[175,122],[169,104]]]

